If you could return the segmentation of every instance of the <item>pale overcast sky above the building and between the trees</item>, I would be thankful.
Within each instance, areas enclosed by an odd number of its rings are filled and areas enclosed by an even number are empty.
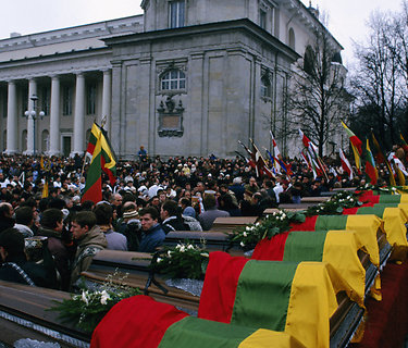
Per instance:
[[[220,0],[222,1],[222,0]],[[309,0],[301,0],[306,5]],[[140,14],[140,0],[2,0],[0,38]],[[367,36],[366,22],[374,10],[397,11],[401,0],[312,0],[326,13],[329,29],[342,44],[344,63],[353,59],[351,39]]]

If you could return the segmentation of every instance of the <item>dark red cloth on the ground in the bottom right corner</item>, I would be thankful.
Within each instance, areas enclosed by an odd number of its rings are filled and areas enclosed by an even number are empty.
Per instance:
[[[381,273],[383,300],[366,301],[368,321],[356,348],[400,348],[408,334],[408,262],[387,263]]]

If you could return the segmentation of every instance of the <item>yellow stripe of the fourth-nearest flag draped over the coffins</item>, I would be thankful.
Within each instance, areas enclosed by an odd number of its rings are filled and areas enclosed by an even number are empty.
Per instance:
[[[383,228],[383,221],[375,215],[348,215],[346,229],[355,231],[358,245],[370,256],[370,261],[374,265],[380,265],[379,244],[376,232]]]

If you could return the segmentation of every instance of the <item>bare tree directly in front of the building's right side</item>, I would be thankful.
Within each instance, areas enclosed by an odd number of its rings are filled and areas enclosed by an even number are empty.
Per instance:
[[[314,34],[304,61],[290,82],[288,110],[290,120],[323,148],[338,133],[339,120],[348,112],[350,95],[345,89],[346,70],[333,39],[325,30]]]

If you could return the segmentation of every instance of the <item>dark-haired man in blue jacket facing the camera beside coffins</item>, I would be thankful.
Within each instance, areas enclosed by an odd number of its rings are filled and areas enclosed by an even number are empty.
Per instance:
[[[149,207],[140,211],[140,223],[143,229],[140,252],[154,252],[164,239],[165,233],[159,224],[159,212],[156,208]]]

